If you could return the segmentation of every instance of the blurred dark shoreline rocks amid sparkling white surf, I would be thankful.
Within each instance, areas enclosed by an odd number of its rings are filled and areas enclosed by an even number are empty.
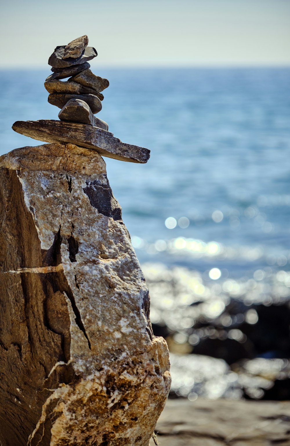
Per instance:
[[[205,281],[164,264],[143,264],[143,271],[153,331],[170,351],[171,397],[290,399],[286,271],[264,282]]]

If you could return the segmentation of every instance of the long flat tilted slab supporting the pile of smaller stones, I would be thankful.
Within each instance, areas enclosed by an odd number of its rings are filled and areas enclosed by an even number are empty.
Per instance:
[[[113,133],[88,124],[55,120],[17,121],[12,128],[36,140],[71,143],[120,161],[146,163],[150,157],[150,150],[123,143]]]

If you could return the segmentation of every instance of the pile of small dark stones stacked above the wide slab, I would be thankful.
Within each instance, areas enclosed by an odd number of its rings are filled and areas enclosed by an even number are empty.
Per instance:
[[[88,36],[82,36],[66,46],[57,46],[48,60],[53,74],[46,78],[44,86],[50,93],[48,102],[61,108],[60,120],[108,130],[108,124],[94,114],[102,108],[101,91],[109,87],[109,81],[90,70],[88,61],[97,56],[97,51],[87,45]],[[68,77],[65,82],[60,80]]]

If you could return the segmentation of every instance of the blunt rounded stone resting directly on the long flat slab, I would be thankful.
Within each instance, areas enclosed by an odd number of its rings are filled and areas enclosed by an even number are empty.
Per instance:
[[[59,112],[59,119],[90,124],[108,130],[108,124],[94,116],[88,104],[80,99],[70,99]]]

